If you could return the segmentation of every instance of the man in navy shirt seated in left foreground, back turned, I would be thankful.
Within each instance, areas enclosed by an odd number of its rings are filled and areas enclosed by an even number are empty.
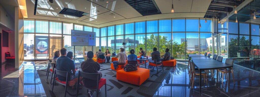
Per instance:
[[[56,64],[56,69],[57,70],[61,70],[61,71],[68,71],[70,73],[70,80],[71,81],[75,81],[75,83],[77,82],[77,76],[78,76],[78,72],[75,70],[75,63],[74,61],[67,57],[66,55],[66,51],[67,49],[62,48],[60,50],[60,57],[57,59],[57,64]],[[66,78],[63,76],[60,76],[57,74],[57,77],[59,78],[60,81],[66,81]],[[69,86],[73,86],[73,88],[75,88],[76,85],[75,83],[70,83]]]

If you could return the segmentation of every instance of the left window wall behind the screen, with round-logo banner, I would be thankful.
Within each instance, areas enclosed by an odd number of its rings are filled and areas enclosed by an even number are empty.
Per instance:
[[[90,26],[66,23],[49,20],[24,20],[24,49],[26,50],[24,59],[48,59],[53,58],[54,52],[62,47],[68,51],[74,51],[71,46],[71,30],[84,30],[94,32],[98,37],[97,47],[99,46],[99,28]],[[92,46],[76,46],[75,53],[77,57],[83,58],[83,51],[92,50]]]

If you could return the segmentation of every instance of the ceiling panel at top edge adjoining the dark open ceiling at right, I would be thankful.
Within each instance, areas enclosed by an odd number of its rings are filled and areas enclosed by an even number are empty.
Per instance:
[[[210,3],[211,0],[193,0],[191,12],[206,12]]]

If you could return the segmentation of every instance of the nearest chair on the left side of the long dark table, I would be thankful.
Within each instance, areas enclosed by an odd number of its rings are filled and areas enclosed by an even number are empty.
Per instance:
[[[200,75],[200,71],[199,70],[195,70],[195,65],[193,63],[193,61],[191,61],[191,89],[194,87],[194,79],[195,79],[195,75]],[[206,84],[208,86],[208,76],[207,76],[207,73],[205,70],[202,70],[201,71],[201,75],[203,76],[204,78],[204,84],[205,84],[205,78],[206,78]]]

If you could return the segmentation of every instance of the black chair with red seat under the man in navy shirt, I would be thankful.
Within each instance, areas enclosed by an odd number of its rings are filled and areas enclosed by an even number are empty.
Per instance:
[[[56,74],[62,76],[62,77],[65,77],[66,78],[66,81],[60,81],[58,78],[56,78]],[[66,97],[66,93],[67,93],[67,85],[69,85],[69,82],[70,81],[70,73],[68,71],[60,71],[60,70],[57,70],[56,68],[54,69],[54,77],[53,77],[53,84],[52,84],[52,89],[51,89],[51,92],[53,92],[53,88],[54,88],[54,82],[56,83],[59,83],[63,86],[65,86],[65,95],[64,97]]]

